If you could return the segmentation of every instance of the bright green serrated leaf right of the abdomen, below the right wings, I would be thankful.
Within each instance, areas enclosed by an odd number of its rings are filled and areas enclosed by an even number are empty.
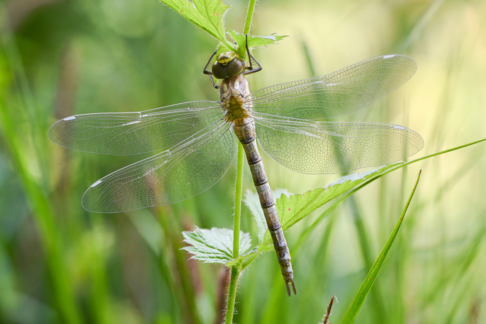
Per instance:
[[[380,169],[346,175],[331,183],[326,188],[307,191],[302,195],[297,194],[287,197],[282,194],[280,198],[277,199],[276,206],[283,230],[285,231],[289,229],[295,225],[296,222],[334,198],[403,163],[404,162],[389,164]]]

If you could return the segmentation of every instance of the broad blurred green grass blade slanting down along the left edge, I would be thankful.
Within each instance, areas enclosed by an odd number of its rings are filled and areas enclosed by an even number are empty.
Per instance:
[[[5,17],[4,8],[0,7],[0,22],[4,23]],[[28,83],[25,82],[25,75],[23,74],[23,66],[19,60],[17,48],[12,38],[12,34],[8,31],[0,33],[0,50],[9,53],[6,63],[2,66],[0,74],[5,78],[15,78],[15,72],[19,72],[19,81],[21,83],[21,91],[29,93],[24,94],[23,99],[30,100],[30,88]],[[79,324],[82,323],[81,315],[79,313],[75,291],[73,283],[69,277],[68,266],[64,256],[64,248],[62,236],[58,229],[58,225],[54,219],[52,212],[52,206],[49,201],[49,197],[45,192],[45,188],[42,182],[35,178],[31,171],[29,171],[30,165],[40,165],[41,173],[46,170],[45,166],[39,162],[42,156],[42,152],[47,152],[45,149],[45,143],[41,140],[41,132],[39,131],[39,125],[35,118],[30,117],[29,127],[32,130],[29,140],[32,143],[39,145],[42,149],[35,149],[31,154],[31,160],[26,159],[23,151],[26,147],[25,140],[23,141],[19,132],[17,131],[17,124],[15,123],[15,116],[12,109],[7,107],[8,102],[5,100],[3,94],[8,91],[7,83],[0,86],[0,133],[2,140],[7,150],[10,153],[10,159],[15,167],[19,180],[23,186],[27,201],[32,210],[32,217],[38,228],[39,237],[42,242],[42,247],[46,254],[46,261],[49,268],[49,272],[52,280],[53,298],[55,300],[55,308],[59,312],[59,317],[63,323],[67,324]],[[29,109],[22,107],[27,113],[32,113],[30,110],[34,110],[32,102],[28,102],[25,106],[29,105]],[[17,107],[18,109],[18,107]],[[32,116],[36,116],[32,114]],[[41,152],[41,153],[39,153]],[[44,178],[41,176],[41,179]]]

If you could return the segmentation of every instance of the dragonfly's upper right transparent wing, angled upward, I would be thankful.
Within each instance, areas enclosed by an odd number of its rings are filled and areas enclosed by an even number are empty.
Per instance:
[[[403,85],[417,70],[405,55],[375,57],[328,75],[272,85],[245,100],[260,114],[324,119],[363,108]]]

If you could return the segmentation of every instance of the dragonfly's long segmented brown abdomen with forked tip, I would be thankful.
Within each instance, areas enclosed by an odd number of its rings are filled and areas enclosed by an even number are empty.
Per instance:
[[[267,176],[265,174],[265,170],[263,169],[260,153],[258,152],[253,119],[235,119],[233,121],[233,130],[242,143],[243,149],[246,153],[246,159],[251,170],[253,183],[255,184],[258,196],[260,197],[260,205],[263,210],[263,214],[265,215],[270,236],[272,237],[274,243],[275,252],[277,253],[278,264],[280,264],[282,276],[285,280],[287,293],[290,296],[289,283],[291,283],[294,293],[297,294],[295,291],[294,272],[292,271],[289,248],[280,225],[277,207],[275,206],[272,191],[270,190]]]

